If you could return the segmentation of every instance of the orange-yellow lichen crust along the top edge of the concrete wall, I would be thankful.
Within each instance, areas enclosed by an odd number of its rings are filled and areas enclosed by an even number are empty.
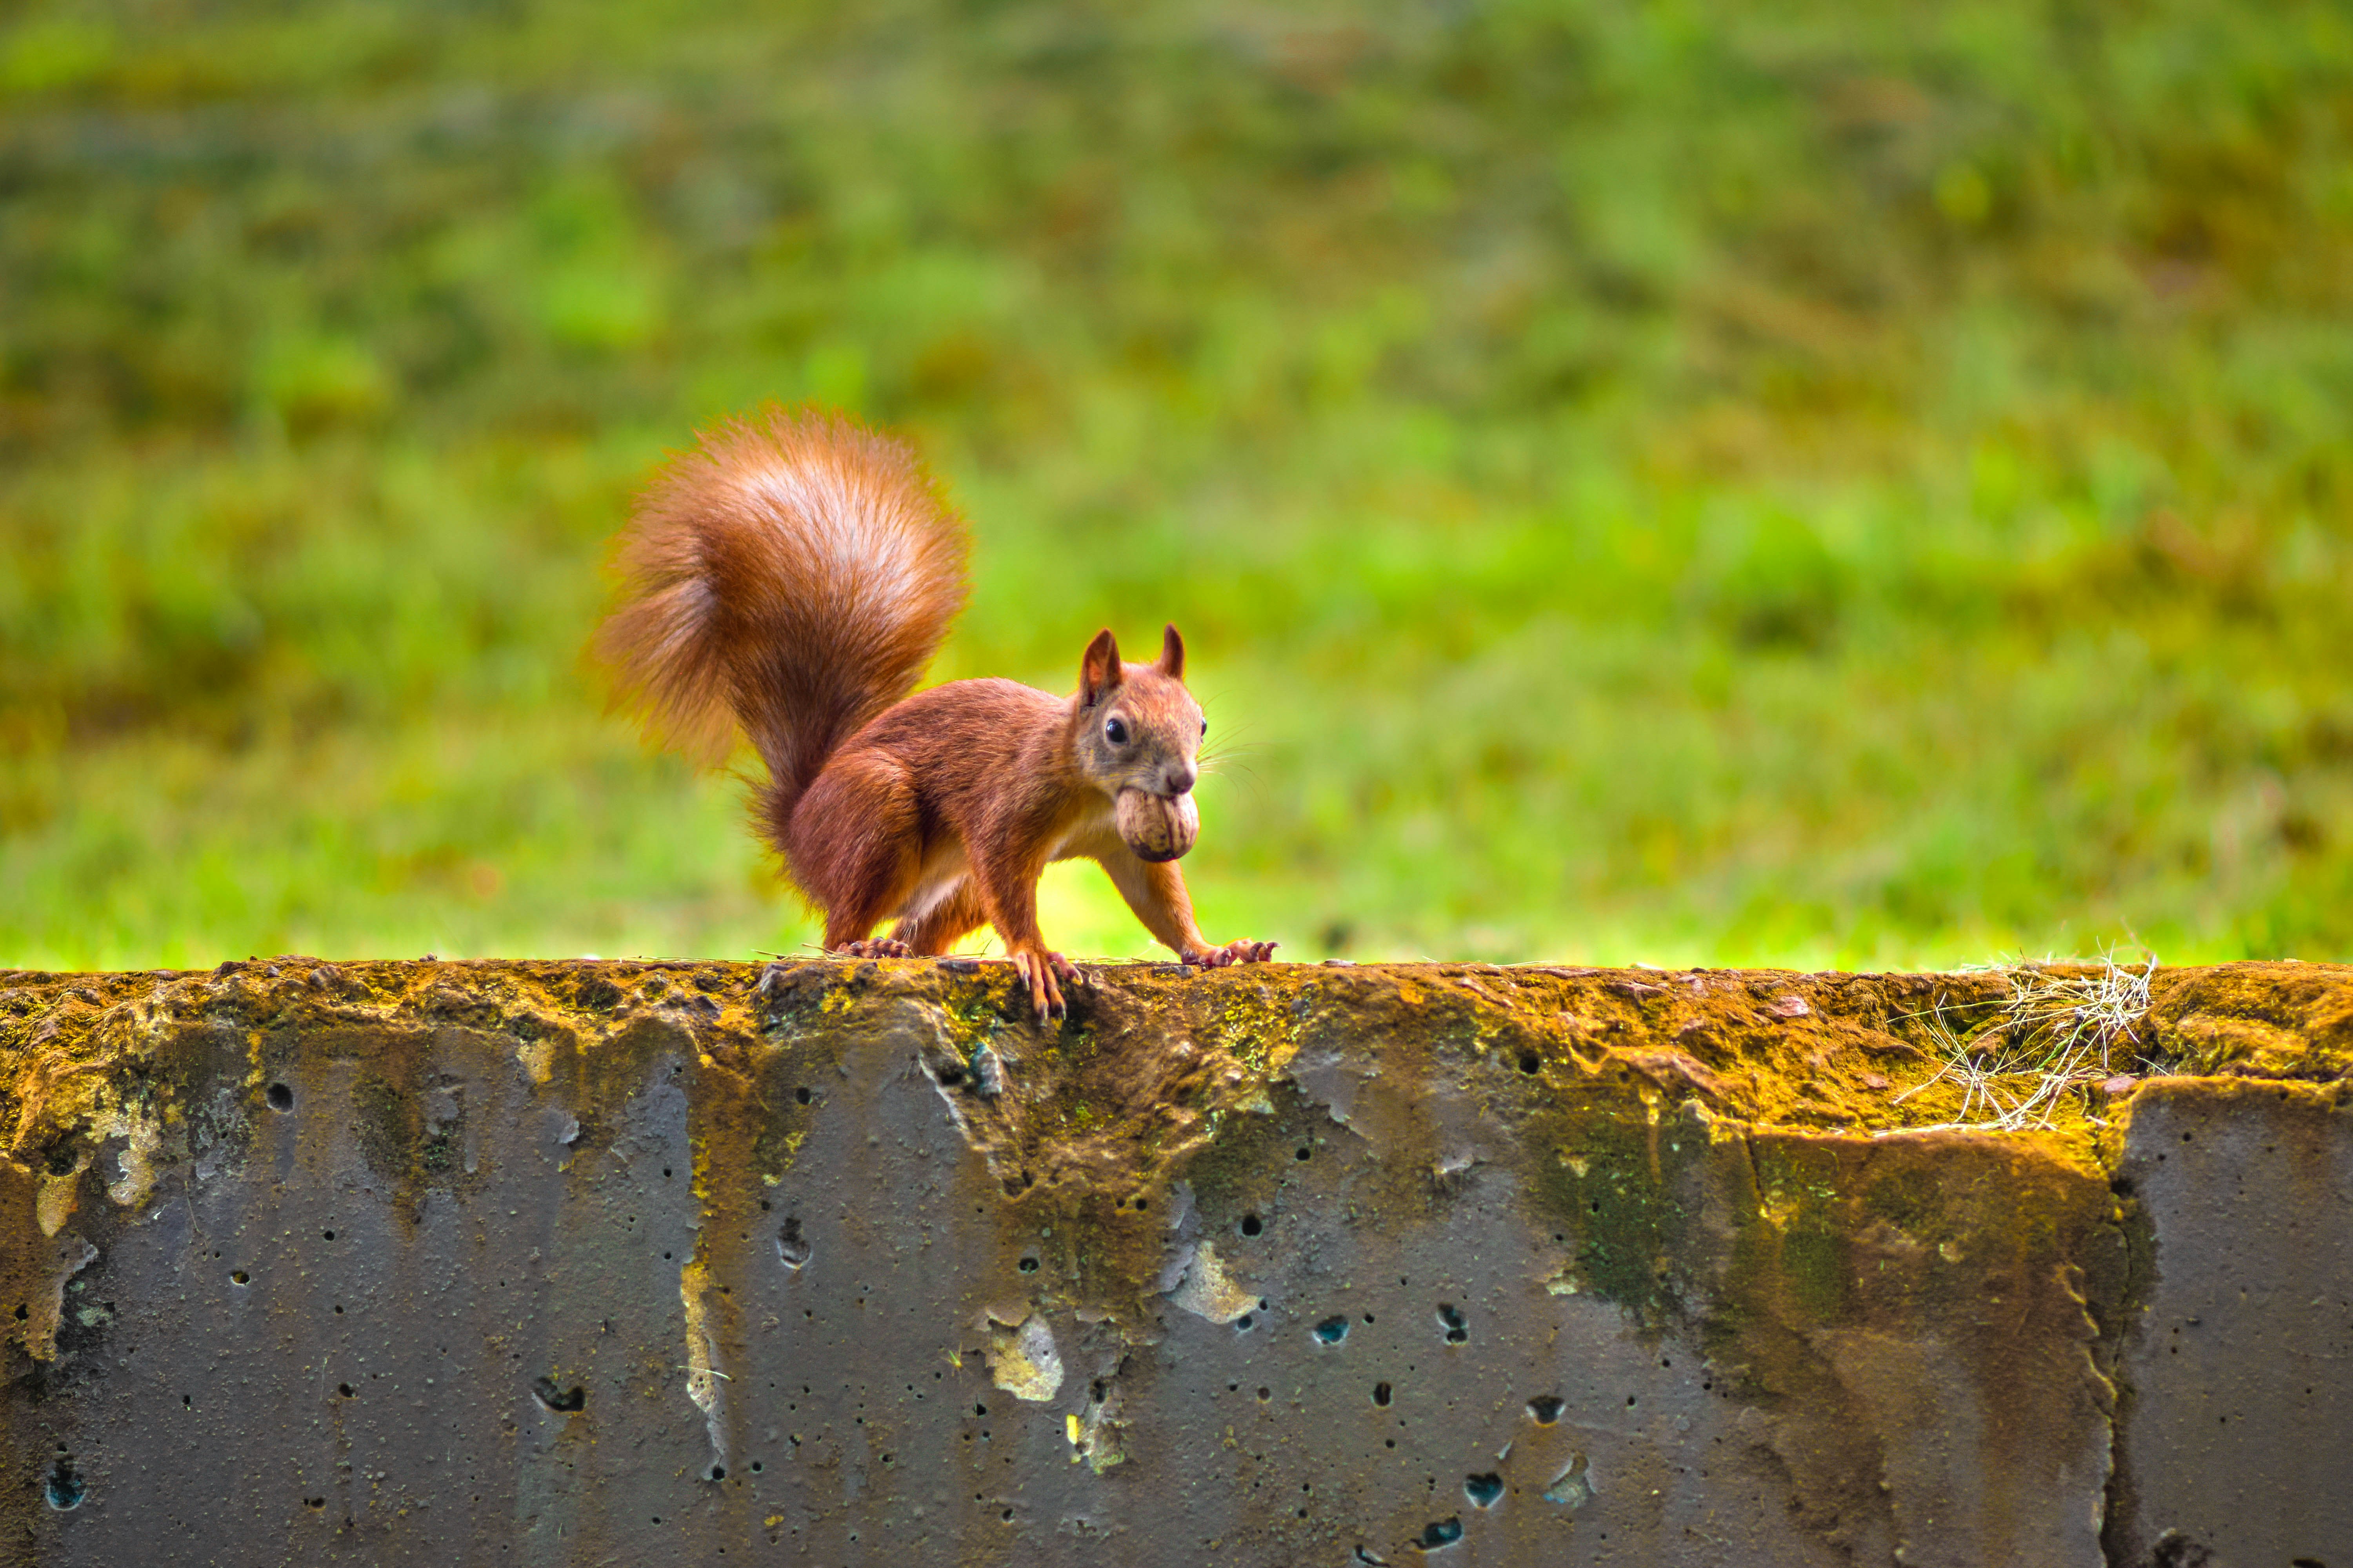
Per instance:
[[[264,1074],[266,1041],[289,1030],[464,1027],[513,1041],[534,1081],[609,1044],[631,1020],[687,1030],[715,1072],[755,1072],[779,1032],[809,1034],[875,997],[922,997],[946,1048],[986,1041],[1054,1081],[1047,1098],[995,1107],[1087,1145],[1184,1147],[1221,1103],[1264,1093],[1304,1041],[1355,1023],[1367,1051],[1393,1030],[1440,1053],[1511,1058],[1541,1081],[1631,1074],[1666,1098],[1758,1126],[1897,1131],[1948,1121],[1958,1088],[1932,1086],[1953,1039],[1998,1023],[2000,973],[1800,976],[1779,971],[1593,971],[1558,966],[1264,966],[1193,976],[1167,964],[1089,971],[1073,1020],[1038,1034],[1009,1006],[1002,964],[809,961],[760,990],[744,964],[320,964],[271,959],[202,973],[35,976],[0,971],[5,1154],[47,1147],[120,1112],[162,1058],[235,1041]],[[819,1030],[821,1032],[821,1030]],[[2329,1079],[2353,1070],[2353,983],[2318,964],[2158,971],[2141,1053],[2165,1070]],[[141,1072],[129,1072],[141,1065]],[[2125,1070],[2139,1072],[2134,1060]],[[151,1077],[151,1074],[148,1074]],[[169,1072],[162,1072],[165,1084]],[[1242,1088],[1252,1081],[1254,1088]],[[386,1079],[388,1084],[393,1079]],[[398,1084],[395,1084],[398,1086]],[[146,1088],[153,1088],[148,1084]],[[765,1093],[765,1091],[762,1091]],[[755,1095],[758,1098],[758,1095]],[[2080,1093],[2054,1119],[2089,1126]],[[774,1143],[774,1133],[767,1143]],[[1099,1152],[1096,1152],[1099,1154]],[[1080,1154],[1075,1166],[1099,1164]],[[1054,1164],[1054,1161],[1047,1161]],[[1035,1175],[1035,1173],[1033,1173]],[[1038,1178],[1045,1180],[1045,1178]]]

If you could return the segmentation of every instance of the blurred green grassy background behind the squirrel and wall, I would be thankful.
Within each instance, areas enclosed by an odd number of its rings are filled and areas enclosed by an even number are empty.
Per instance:
[[[0,964],[807,943],[581,656],[760,397],[1186,628],[1214,940],[2353,950],[2341,2],[0,19]]]

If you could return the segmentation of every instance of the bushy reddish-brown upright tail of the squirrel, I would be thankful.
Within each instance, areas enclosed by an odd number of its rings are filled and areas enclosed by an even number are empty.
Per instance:
[[[965,607],[967,552],[913,451],[772,404],[647,487],[595,646],[619,701],[687,755],[722,759],[741,724],[781,825],[833,748],[915,686]]]

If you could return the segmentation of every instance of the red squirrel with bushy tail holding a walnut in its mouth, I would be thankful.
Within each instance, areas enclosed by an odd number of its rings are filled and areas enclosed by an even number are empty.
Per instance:
[[[988,924],[1038,1018],[1059,1016],[1078,971],[1038,929],[1038,877],[1082,856],[1186,964],[1264,964],[1275,943],[1202,938],[1176,872],[1207,724],[1174,625],[1148,665],[1096,632],[1068,698],[1009,679],[908,696],[965,607],[967,555],[901,442],[769,404],[640,496],[598,654],[649,736],[718,762],[744,729],[767,764],[755,825],[824,910],[826,952],[939,954]]]

